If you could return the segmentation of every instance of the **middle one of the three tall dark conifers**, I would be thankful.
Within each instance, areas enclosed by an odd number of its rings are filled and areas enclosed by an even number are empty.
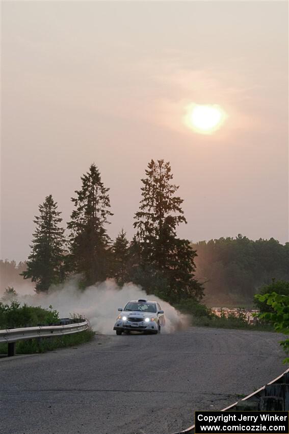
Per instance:
[[[98,168],[91,164],[81,177],[82,188],[71,198],[75,209],[71,213],[71,262],[73,271],[84,276],[83,284],[92,285],[109,274],[110,237],[105,225],[110,212],[109,188],[104,187]]]

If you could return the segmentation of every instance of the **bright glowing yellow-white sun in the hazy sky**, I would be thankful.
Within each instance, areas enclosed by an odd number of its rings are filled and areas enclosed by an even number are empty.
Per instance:
[[[187,107],[185,122],[189,128],[201,134],[212,134],[218,130],[226,118],[226,113],[218,105],[190,104]]]

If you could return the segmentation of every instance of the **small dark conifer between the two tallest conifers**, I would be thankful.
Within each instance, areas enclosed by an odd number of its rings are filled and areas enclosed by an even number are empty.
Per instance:
[[[113,276],[119,285],[123,285],[129,280],[127,270],[129,242],[123,229],[116,237],[112,250],[114,258]]]

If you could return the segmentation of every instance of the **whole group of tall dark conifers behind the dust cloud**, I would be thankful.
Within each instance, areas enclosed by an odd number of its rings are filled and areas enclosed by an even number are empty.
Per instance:
[[[51,195],[39,205],[35,232],[24,279],[35,283],[36,292],[47,292],[67,276],[81,276],[80,288],[107,278],[121,286],[141,285],[147,294],[177,303],[201,300],[203,286],[195,278],[196,251],[187,239],[177,237],[177,226],[187,223],[176,195],[171,166],[151,160],[141,179],[141,201],[134,216],[135,235],[128,240],[122,229],[115,240],[107,232],[111,212],[109,188],[99,169],[91,164],[81,177],[81,188],[71,198],[73,210],[62,225],[61,211]]]

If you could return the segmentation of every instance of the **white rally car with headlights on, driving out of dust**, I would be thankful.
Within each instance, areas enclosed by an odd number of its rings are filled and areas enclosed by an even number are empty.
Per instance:
[[[164,311],[156,301],[132,300],[124,309],[118,308],[121,314],[117,317],[114,325],[116,334],[123,331],[142,331],[145,333],[160,333],[161,327],[165,325]]]

